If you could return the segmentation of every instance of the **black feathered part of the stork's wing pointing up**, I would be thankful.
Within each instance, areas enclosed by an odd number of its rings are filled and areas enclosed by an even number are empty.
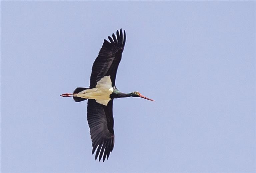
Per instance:
[[[110,75],[112,87],[115,85],[116,71],[122,58],[126,34],[122,29],[120,33],[116,31],[116,36],[112,34],[113,39],[109,36],[109,41],[104,40],[99,55],[93,63],[90,77],[90,88],[95,88],[97,82],[104,76]]]

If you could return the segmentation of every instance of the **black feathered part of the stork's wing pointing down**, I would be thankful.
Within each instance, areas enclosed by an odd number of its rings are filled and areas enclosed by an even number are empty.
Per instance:
[[[91,141],[93,142],[93,154],[98,147],[95,160],[99,156],[99,161],[103,155],[109,158],[114,147],[114,118],[113,99],[107,106],[97,103],[94,99],[88,99],[87,120],[90,127]]]

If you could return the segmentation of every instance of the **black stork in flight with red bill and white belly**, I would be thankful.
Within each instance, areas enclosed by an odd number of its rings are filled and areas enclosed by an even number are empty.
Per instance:
[[[154,101],[143,96],[140,92],[122,93],[115,85],[116,72],[124,51],[126,34],[116,31],[109,41],[104,39],[99,55],[93,63],[90,77],[90,88],[76,88],[73,93],[65,93],[62,97],[73,97],[75,102],[88,99],[87,120],[90,128],[91,141],[93,142],[93,154],[95,160],[99,161],[103,156],[109,158],[114,147],[114,119],[113,100],[122,97],[141,97]],[[104,155],[103,155],[104,154]]]

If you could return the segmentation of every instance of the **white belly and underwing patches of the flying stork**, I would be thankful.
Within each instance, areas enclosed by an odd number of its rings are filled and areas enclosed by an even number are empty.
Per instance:
[[[97,82],[95,88],[83,90],[74,96],[85,99],[95,99],[96,102],[106,106],[110,101],[110,95],[112,92],[113,88],[110,76],[104,76]]]

